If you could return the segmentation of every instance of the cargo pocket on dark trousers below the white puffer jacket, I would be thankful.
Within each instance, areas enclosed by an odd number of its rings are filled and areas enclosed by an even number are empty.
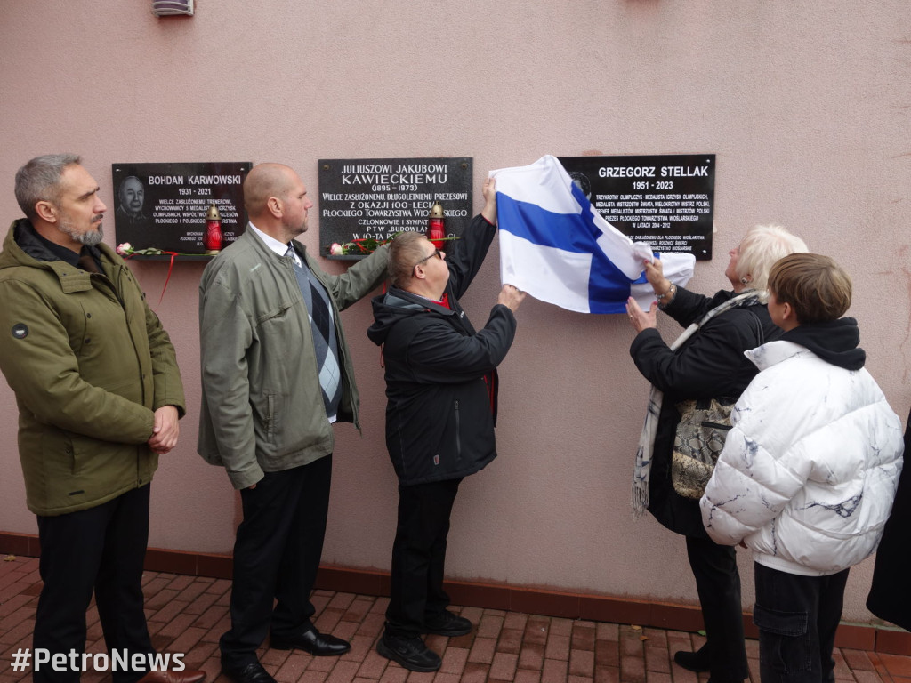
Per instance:
[[[759,658],[781,674],[813,668],[813,647],[806,612],[783,612],[756,605],[752,621],[760,630]]]

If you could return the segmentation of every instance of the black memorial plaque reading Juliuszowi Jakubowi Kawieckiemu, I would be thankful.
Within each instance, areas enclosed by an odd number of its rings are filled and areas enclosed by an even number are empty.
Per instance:
[[[425,232],[435,201],[446,237],[460,236],[472,218],[471,157],[320,159],[319,176],[320,254],[329,259],[365,255],[356,247],[330,254],[333,243]]]

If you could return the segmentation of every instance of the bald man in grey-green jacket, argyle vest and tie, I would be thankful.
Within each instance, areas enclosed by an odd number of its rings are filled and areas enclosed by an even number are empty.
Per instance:
[[[293,240],[312,203],[292,168],[255,166],[243,195],[250,223],[200,282],[199,452],[225,468],[243,505],[221,667],[238,683],[273,683],[256,658],[267,632],[271,647],[314,656],[351,647],[313,627],[310,592],[329,506],[332,423],[357,424],[338,315],[384,279],[386,248],[327,275]]]

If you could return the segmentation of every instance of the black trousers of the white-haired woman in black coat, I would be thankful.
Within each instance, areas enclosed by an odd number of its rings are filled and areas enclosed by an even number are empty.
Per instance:
[[[750,678],[734,548],[718,545],[710,538],[687,536],[686,551],[705,622],[710,677],[715,681]]]

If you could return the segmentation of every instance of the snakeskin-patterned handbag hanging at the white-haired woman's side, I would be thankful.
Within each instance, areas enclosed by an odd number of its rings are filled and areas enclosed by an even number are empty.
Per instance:
[[[674,436],[670,481],[684,498],[700,499],[722,454],[731,429],[733,399],[690,399],[676,407],[681,413]]]

